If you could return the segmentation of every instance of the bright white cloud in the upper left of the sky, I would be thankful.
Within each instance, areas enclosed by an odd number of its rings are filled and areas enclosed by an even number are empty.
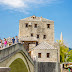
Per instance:
[[[0,0],[0,6],[8,9],[25,11],[37,5],[50,4],[56,0]]]

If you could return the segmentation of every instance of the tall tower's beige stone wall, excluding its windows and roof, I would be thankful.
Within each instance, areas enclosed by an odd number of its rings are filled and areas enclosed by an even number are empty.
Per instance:
[[[36,17],[37,18],[37,17]],[[33,33],[34,37],[39,35],[38,42],[46,41],[49,44],[54,43],[54,21],[46,20],[46,21],[29,21],[30,18],[26,20],[19,21],[19,37],[21,36],[31,36]],[[25,27],[26,23],[31,23],[31,26],[28,28]],[[34,28],[34,25],[37,24],[37,28]],[[47,28],[47,24],[50,24],[50,28]],[[43,35],[46,35],[46,39],[43,39]]]

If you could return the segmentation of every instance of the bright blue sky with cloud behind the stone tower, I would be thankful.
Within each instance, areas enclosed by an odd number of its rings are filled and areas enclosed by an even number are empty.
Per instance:
[[[0,0],[0,37],[18,35],[19,20],[32,15],[53,20],[55,41],[62,32],[72,48],[72,0]]]

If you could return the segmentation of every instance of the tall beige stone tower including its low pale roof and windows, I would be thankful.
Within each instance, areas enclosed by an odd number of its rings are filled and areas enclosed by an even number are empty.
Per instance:
[[[49,44],[54,43],[54,21],[31,16],[19,21],[19,39],[25,37],[35,37],[38,43],[43,41]]]

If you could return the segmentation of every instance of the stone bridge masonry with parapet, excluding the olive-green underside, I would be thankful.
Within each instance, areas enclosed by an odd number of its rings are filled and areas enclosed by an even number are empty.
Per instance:
[[[22,44],[18,43],[0,50],[0,67],[9,67],[17,59],[24,62],[28,72],[34,72],[34,62]]]

